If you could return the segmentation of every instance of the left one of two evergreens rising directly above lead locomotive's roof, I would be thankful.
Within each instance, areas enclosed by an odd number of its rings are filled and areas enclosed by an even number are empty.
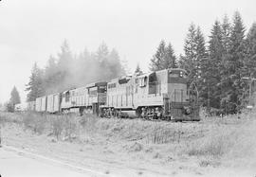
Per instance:
[[[166,52],[165,52],[165,41],[162,40],[159,44],[159,46],[156,49],[155,55],[151,59],[150,63],[150,70],[151,71],[158,71],[163,69],[162,62],[164,61]]]

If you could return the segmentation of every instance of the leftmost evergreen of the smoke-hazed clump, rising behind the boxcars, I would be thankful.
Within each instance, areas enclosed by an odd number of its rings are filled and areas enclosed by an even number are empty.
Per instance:
[[[37,63],[34,63],[29,82],[26,86],[26,91],[28,92],[27,101],[33,101],[37,97],[45,95],[44,71],[37,66]]]

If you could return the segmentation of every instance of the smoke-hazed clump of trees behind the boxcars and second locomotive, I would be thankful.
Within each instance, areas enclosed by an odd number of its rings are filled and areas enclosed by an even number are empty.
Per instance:
[[[49,57],[46,68],[40,68],[37,63],[33,65],[26,85],[27,101],[123,75],[125,69],[116,49],[109,50],[106,44],[101,44],[96,52],[85,48],[81,53],[74,54],[64,41],[61,52],[56,57]]]

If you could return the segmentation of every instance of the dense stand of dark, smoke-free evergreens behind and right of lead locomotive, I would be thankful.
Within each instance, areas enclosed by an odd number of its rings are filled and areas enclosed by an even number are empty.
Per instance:
[[[231,21],[225,15],[222,21],[213,23],[208,40],[201,28],[192,24],[184,54],[177,59],[172,44],[166,46],[161,41],[150,69],[177,65],[187,70],[189,84],[197,85],[203,107],[225,114],[240,112],[248,104],[248,83],[243,77],[256,77],[256,23],[246,34],[241,14],[235,11]]]

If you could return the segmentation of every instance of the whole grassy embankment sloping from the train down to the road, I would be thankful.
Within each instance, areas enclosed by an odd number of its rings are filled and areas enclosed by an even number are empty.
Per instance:
[[[5,144],[117,176],[251,176],[256,114],[200,122],[1,113]]]

